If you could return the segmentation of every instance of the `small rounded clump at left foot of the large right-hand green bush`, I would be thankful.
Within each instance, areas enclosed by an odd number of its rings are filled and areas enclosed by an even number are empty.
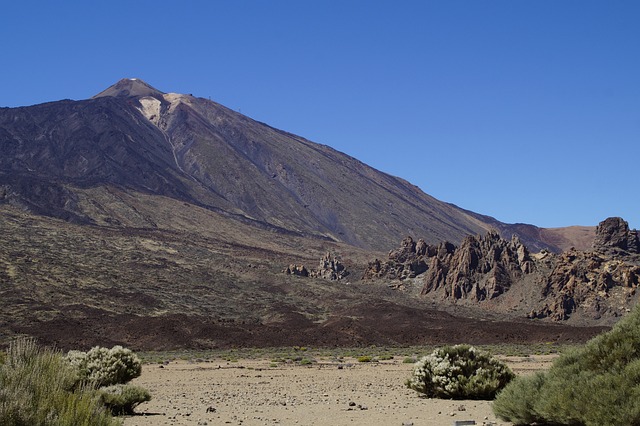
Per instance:
[[[545,373],[516,377],[498,393],[493,402],[493,412],[501,419],[509,419],[515,425],[543,423],[534,405],[540,399],[540,389]]]

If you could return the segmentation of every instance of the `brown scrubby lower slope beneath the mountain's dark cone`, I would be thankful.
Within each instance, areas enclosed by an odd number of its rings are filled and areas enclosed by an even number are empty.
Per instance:
[[[566,343],[602,331],[499,312],[452,315],[387,285],[358,282],[371,252],[255,229],[171,198],[104,196],[136,209],[126,220],[155,211],[174,229],[85,226],[0,206],[0,347],[18,335],[61,349],[161,350]],[[326,251],[341,255],[354,281],[282,272],[289,262],[317,264]]]

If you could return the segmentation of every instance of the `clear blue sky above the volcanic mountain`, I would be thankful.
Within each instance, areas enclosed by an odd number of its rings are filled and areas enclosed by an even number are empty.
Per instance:
[[[640,228],[640,1],[8,1],[0,105],[211,97],[504,222]]]

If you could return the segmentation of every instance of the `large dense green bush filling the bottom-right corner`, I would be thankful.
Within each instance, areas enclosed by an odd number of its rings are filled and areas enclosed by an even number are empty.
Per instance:
[[[503,420],[561,425],[640,424],[640,307],[614,328],[558,358],[536,384],[514,381],[494,402]],[[518,406],[519,410],[509,407]],[[520,421],[521,423],[518,423]]]

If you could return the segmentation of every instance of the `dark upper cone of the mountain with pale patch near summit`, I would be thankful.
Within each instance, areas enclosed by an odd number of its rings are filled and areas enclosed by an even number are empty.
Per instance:
[[[88,100],[0,109],[0,154],[0,202],[75,223],[171,227],[100,201],[118,188],[367,249],[405,235],[459,242],[491,228],[559,249],[328,146],[139,79]]]

